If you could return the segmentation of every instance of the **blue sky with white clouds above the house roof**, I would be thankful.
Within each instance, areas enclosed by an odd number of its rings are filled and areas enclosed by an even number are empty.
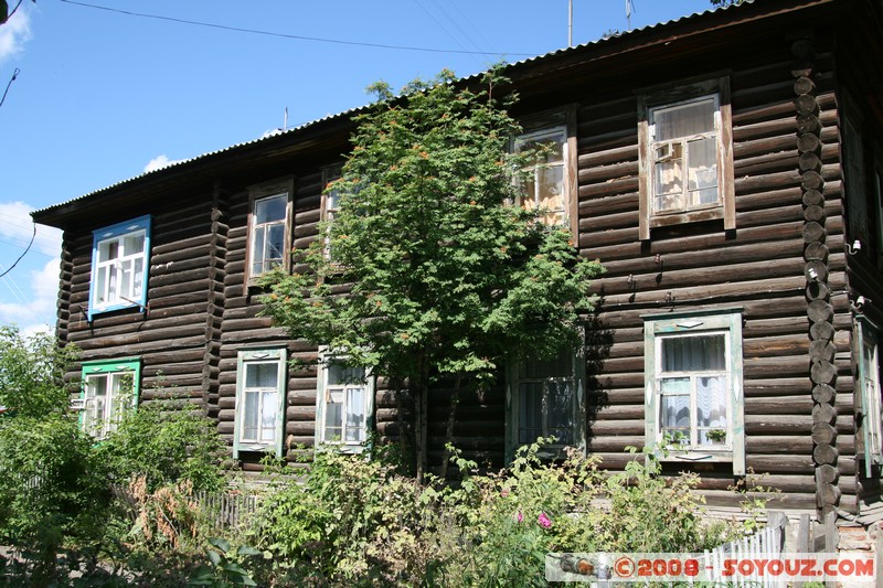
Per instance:
[[[712,8],[630,4],[627,19],[626,0],[573,0],[573,43]],[[31,211],[259,138],[286,109],[292,127],[362,106],[373,82],[566,47],[567,14],[568,0],[23,0],[0,24],[0,325],[55,324],[61,233],[38,226],[28,248]]]

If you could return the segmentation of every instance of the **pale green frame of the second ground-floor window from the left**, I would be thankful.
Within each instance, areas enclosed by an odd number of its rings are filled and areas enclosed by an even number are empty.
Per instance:
[[[238,459],[245,451],[274,452],[277,458],[283,457],[283,445],[285,441],[285,407],[288,391],[288,350],[285,348],[262,348],[240,350],[236,355],[236,408],[233,421],[233,458]],[[245,371],[249,364],[275,363],[276,364],[276,436],[273,441],[247,441],[242,439],[243,435],[243,410],[245,409]]]

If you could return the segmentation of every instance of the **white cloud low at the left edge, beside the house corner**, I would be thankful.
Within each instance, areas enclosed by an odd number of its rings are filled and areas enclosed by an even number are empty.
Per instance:
[[[28,272],[31,295],[15,284],[12,275],[0,278],[3,298],[12,292],[18,302],[0,302],[0,324],[18,324],[22,334],[46,331],[55,324],[55,299],[58,296],[60,266],[57,259],[46,261],[42,269]]]

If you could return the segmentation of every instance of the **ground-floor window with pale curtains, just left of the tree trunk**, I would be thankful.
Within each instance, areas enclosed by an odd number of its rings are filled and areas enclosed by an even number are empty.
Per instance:
[[[368,440],[374,386],[364,367],[330,357],[319,368],[316,409],[317,443],[340,443],[354,450]]]

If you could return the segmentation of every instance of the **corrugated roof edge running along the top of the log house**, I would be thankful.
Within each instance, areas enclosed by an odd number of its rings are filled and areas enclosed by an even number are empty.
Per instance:
[[[744,0],[742,3],[743,4],[753,4],[754,0]],[[734,8],[736,8],[736,7],[735,6],[725,6],[725,7],[713,8],[713,9],[704,10],[702,12],[695,12],[693,14],[688,14],[688,15],[681,17],[679,19],[672,19],[672,20],[660,22],[660,23],[656,23],[656,24],[648,24],[647,26],[641,26],[640,29],[632,29],[631,31],[616,33],[616,34],[613,34],[610,36],[605,36],[605,38],[598,39],[596,41],[589,41],[587,43],[583,43],[583,44],[579,44],[579,45],[574,45],[572,47],[558,49],[558,50],[555,50],[555,51],[551,51],[549,53],[544,53],[542,55],[536,55],[535,57],[528,57],[525,60],[511,63],[511,64],[507,65],[507,70],[521,68],[521,67],[528,66],[530,64],[535,64],[536,62],[540,62],[540,61],[543,61],[543,60],[552,58],[554,56],[560,56],[560,55],[564,55],[564,54],[567,54],[567,53],[574,53],[574,52],[577,52],[577,51],[584,51],[587,47],[600,46],[600,45],[603,45],[605,43],[611,42],[615,39],[624,39],[624,38],[628,38],[628,36],[631,36],[631,35],[646,34],[649,31],[656,31],[656,30],[659,30],[659,29],[664,29],[667,26],[671,26],[671,25],[677,24],[677,23],[683,23],[683,22],[688,22],[688,21],[692,21],[692,20],[696,20],[696,19],[703,18],[704,15],[710,14],[712,12],[720,12],[720,11],[723,11],[723,10],[732,10]],[[483,74],[485,74],[485,72],[480,72],[480,73],[477,73],[477,74],[472,74],[470,76],[462,77],[459,81],[460,82],[471,82],[471,81],[475,81],[475,79],[479,79]],[[401,95],[396,96],[396,98],[400,98],[400,97],[401,97]],[[193,163],[195,161],[201,161],[201,160],[204,160],[204,159],[208,159],[208,158],[211,158],[211,157],[220,156],[220,154],[223,154],[223,153],[228,153],[231,151],[235,151],[235,150],[238,150],[238,149],[247,148],[247,147],[260,143],[260,142],[269,141],[269,140],[278,138],[280,136],[294,135],[294,133],[304,131],[305,129],[307,129],[309,127],[312,127],[315,125],[321,124],[321,122],[327,122],[327,121],[330,121],[330,120],[344,118],[344,117],[351,117],[353,115],[357,115],[357,114],[360,114],[360,113],[366,110],[368,107],[369,107],[369,105],[362,105],[362,106],[359,106],[359,107],[355,107],[355,108],[351,108],[349,110],[343,110],[342,113],[338,113],[336,115],[328,115],[328,116],[325,116],[322,118],[310,120],[309,122],[304,122],[304,124],[301,124],[301,125],[299,125],[297,127],[292,127],[292,128],[286,129],[284,131],[270,133],[270,135],[267,135],[267,136],[264,136],[264,137],[260,137],[260,138],[257,138],[257,139],[252,139],[249,141],[244,141],[244,142],[241,142],[241,143],[235,143],[235,145],[232,145],[232,146],[228,146],[228,147],[224,147],[223,149],[217,149],[215,151],[209,151],[206,153],[202,153],[202,154],[192,157],[190,159],[183,159],[183,160],[180,160],[180,161],[175,161],[174,163],[170,163],[170,164],[164,165],[162,168],[159,168],[157,170],[151,170],[151,171],[135,175],[132,178],[129,178],[127,180],[121,180],[121,181],[116,182],[114,184],[110,184],[110,185],[107,185],[105,188],[95,190],[93,192],[88,192],[86,194],[83,194],[82,196],[77,196],[75,199],[71,199],[71,200],[65,201],[63,203],[53,204],[51,206],[46,206],[45,209],[41,209],[39,211],[34,211],[32,214],[40,215],[40,214],[49,212],[49,211],[51,211],[53,209],[65,206],[65,205],[67,205],[70,203],[78,202],[81,200],[85,200],[85,199],[95,196],[95,195],[100,194],[103,192],[107,192],[109,190],[114,190],[116,188],[120,188],[123,185],[137,182],[137,181],[139,181],[139,180],[141,180],[143,178],[150,177],[150,175],[161,174],[161,173],[167,172],[167,171],[169,171],[171,169],[174,169],[174,168],[180,168],[182,165],[188,165],[188,164]]]

